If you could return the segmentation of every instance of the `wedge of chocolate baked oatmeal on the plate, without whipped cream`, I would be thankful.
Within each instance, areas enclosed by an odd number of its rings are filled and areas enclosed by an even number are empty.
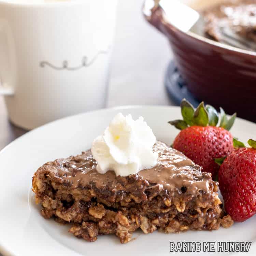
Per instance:
[[[115,234],[127,243],[138,228],[173,233],[233,224],[224,216],[211,174],[162,142],[153,150],[159,153],[157,165],[126,177],[99,174],[90,150],[47,162],[32,182],[43,217],[72,223],[69,232],[90,242]]]

